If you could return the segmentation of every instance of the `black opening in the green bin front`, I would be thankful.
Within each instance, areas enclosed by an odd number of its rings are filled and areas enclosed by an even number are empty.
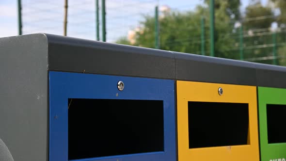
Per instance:
[[[286,105],[267,104],[268,143],[286,143]]]

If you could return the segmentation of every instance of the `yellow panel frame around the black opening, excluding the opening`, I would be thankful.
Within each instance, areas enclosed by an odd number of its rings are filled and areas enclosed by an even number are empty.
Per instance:
[[[250,144],[189,149],[188,101],[248,103]],[[177,81],[177,129],[178,161],[259,161],[256,87]]]

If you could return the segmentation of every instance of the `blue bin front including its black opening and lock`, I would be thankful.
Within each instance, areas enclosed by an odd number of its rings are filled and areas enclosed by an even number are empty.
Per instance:
[[[49,72],[49,161],[175,161],[174,80]]]

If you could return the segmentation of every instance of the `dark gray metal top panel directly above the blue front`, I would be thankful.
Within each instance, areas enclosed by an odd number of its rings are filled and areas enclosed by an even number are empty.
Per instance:
[[[175,79],[170,51],[47,36],[49,70]]]

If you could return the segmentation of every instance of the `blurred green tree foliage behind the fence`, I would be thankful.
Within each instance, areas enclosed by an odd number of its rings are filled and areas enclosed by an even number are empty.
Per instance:
[[[286,22],[286,0],[271,0],[281,10],[278,16],[279,24]],[[209,0],[204,5],[198,5],[194,11],[161,13],[159,16],[160,49],[185,53],[201,54],[201,19],[205,18],[205,53],[209,55]],[[273,35],[270,32],[274,22],[273,9],[263,6],[260,0],[253,0],[246,7],[245,15],[239,12],[240,0],[215,0],[215,56],[229,59],[240,59],[240,28],[235,23],[242,22],[243,26],[243,55],[245,59],[261,58],[258,63],[272,64]],[[283,10],[283,11],[282,11]],[[285,14],[285,15],[284,15]],[[283,16],[284,15],[284,16]],[[284,20],[285,19],[285,20]],[[260,30],[263,29],[263,32]],[[262,35],[259,35],[262,33]],[[286,33],[277,33],[277,55],[286,57]],[[117,41],[119,44],[155,48],[155,18],[144,16],[141,28],[136,30],[132,43],[126,38]],[[265,45],[267,47],[265,47]],[[284,59],[285,60],[285,59]],[[279,64],[286,65],[283,60]]]

